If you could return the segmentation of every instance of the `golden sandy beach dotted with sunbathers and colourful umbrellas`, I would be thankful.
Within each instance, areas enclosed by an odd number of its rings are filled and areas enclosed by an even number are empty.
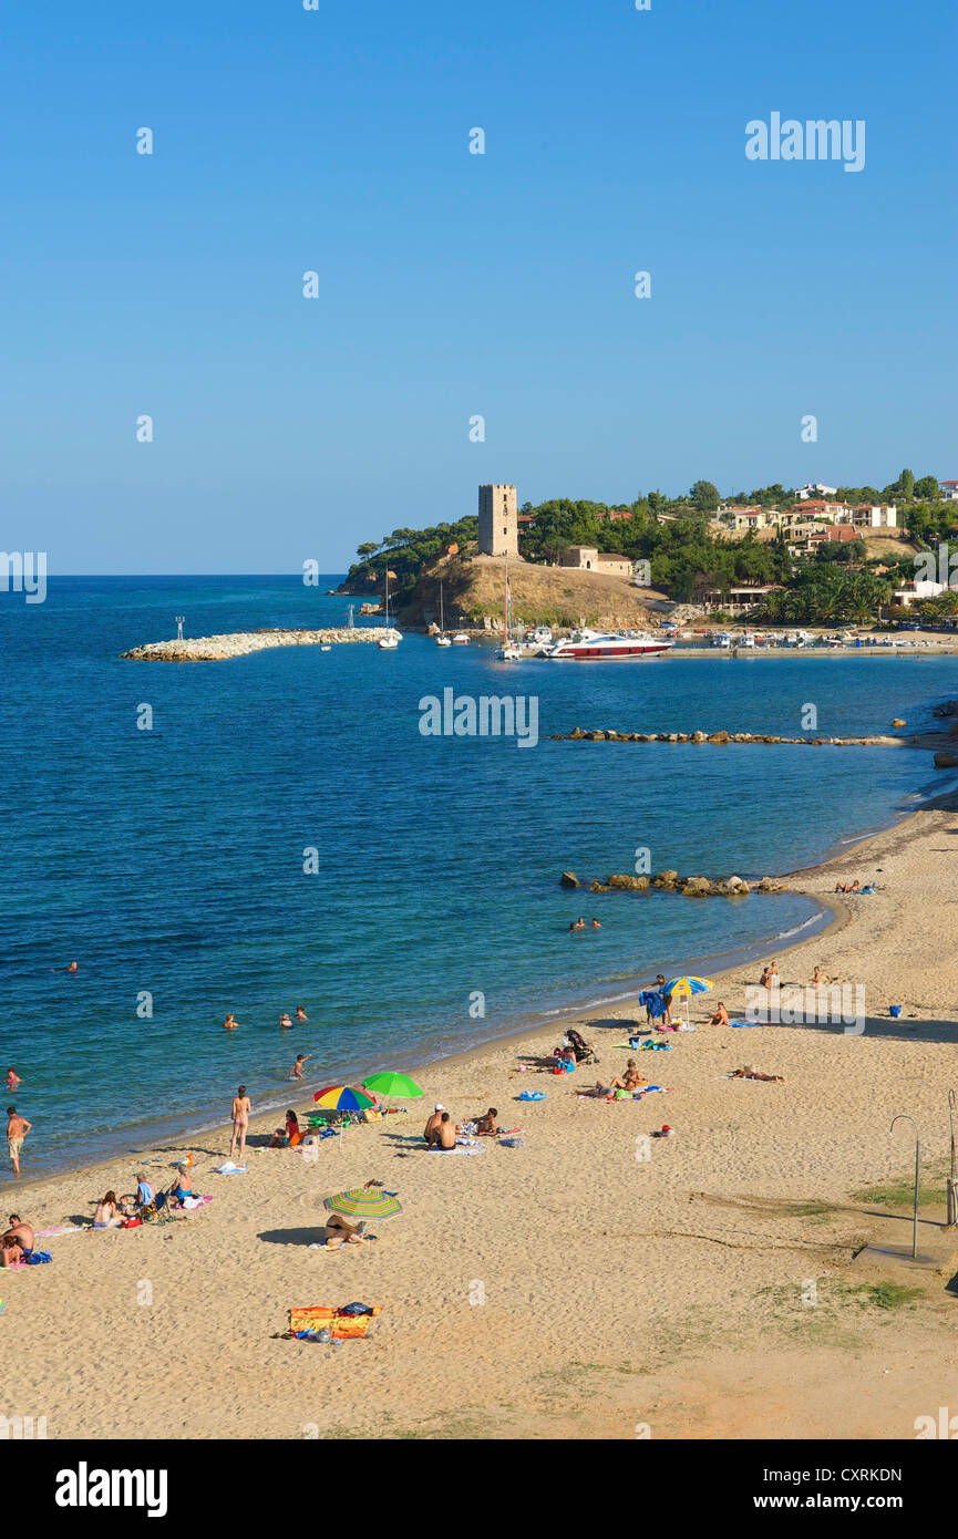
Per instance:
[[[205,1208],[162,1228],[59,1234],[39,1242],[51,1265],[3,1273],[0,1411],[46,1417],[51,1439],[913,1437],[915,1417],[953,1390],[955,1268],[926,1270],[918,1293],[887,1307],[853,1257],[889,1231],[910,1239],[887,1216],[909,1214],[907,1200],[861,1196],[909,1177],[910,1131],[889,1137],[899,1111],[918,1119],[941,1199],[923,1208],[923,1234],[941,1239],[956,837],[946,803],[792,879],[835,920],[779,954],[782,983],[819,965],[864,985],[863,1034],[704,1025],[716,999],[741,1016],[750,968],[693,1000],[695,1033],[636,1054],[667,1094],[573,1094],[622,1071],[644,1020],[627,1003],[579,1022],[599,1070],[518,1073],[559,1031],[505,1039],[424,1068],[408,1114],[350,1128],[314,1162],[253,1147],[248,1173],[223,1177],[213,1167],[228,1130],[194,1143]],[[852,877],[879,891],[835,897]],[[644,900],[611,899],[607,922],[616,902]],[[785,1083],[724,1077],[744,1063]],[[516,1100],[530,1088],[545,1100]],[[434,1100],[456,1119],[496,1105],[524,1147],[427,1153]],[[254,1117],[254,1140],[276,1120]],[[664,1122],[673,1137],[641,1140]],[[139,1168],[169,1182],[185,1148],[146,1153],[154,1163],[129,1156],[35,1182],[28,1140],[23,1179],[3,1177],[3,1213],[39,1230],[89,1220],[94,1199],[129,1190]],[[374,1244],[311,1248],[322,1199],[370,1179],[404,1213]],[[382,1305],[367,1340],[277,1339],[291,1305],[350,1300]]]

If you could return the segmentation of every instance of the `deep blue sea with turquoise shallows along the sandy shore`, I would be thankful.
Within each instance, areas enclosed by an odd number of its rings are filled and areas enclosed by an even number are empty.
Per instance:
[[[285,1103],[296,1053],[313,1054],[311,1083],[333,1082],[767,950],[816,905],[591,897],[559,873],[631,871],[647,846],[653,870],[775,874],[930,782],[929,756],[904,749],[550,733],[798,734],[815,703],[821,734],[861,734],[892,716],[930,725],[955,694],[955,663],[935,657],[502,665],[408,636],[394,653],[119,659],[171,636],[174,614],[188,636],[342,622],[347,600],[322,591],[336,580],[60,579],[43,605],[0,596],[0,1070],[15,1065],[35,1123],[26,1170],[199,1127],[240,1080],[254,1107]],[[534,694],[541,742],[424,737],[419,700],[445,686]],[[137,729],[143,703],[152,731]],[[570,936],[579,913],[604,928]],[[79,974],[57,971],[74,957]],[[308,1025],[280,1031],[299,1003]]]

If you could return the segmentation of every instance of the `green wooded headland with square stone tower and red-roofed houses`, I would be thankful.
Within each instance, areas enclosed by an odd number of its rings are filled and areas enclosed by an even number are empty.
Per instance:
[[[430,625],[442,585],[450,623],[491,626],[508,562],[513,609],[527,623],[903,623],[916,614],[952,623],[950,542],[958,556],[958,482],[910,471],[884,491],[809,483],[721,499],[696,482],[685,499],[650,492],[619,506],[519,508],[516,488],[496,483],[479,488],[476,516],[362,545],[340,591],[379,596],[388,574],[400,622]]]

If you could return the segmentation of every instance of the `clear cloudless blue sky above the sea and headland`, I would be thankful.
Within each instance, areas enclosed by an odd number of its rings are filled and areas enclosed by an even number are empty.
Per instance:
[[[8,5],[0,543],[337,571],[482,480],[958,477],[955,14]],[[864,171],[749,162],[773,111],[864,119]]]

